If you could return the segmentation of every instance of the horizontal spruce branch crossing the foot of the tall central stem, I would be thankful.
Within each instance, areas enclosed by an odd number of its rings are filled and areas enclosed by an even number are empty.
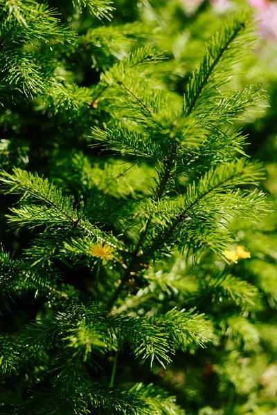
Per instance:
[[[192,345],[204,347],[213,337],[213,327],[204,315],[193,310],[173,309],[166,315],[153,317],[132,317],[128,315],[102,314],[98,304],[73,303],[66,313],[43,317],[30,324],[22,333],[28,347],[72,348],[73,356],[80,356],[83,362],[91,360],[91,353],[104,354],[111,349],[121,349],[129,342],[134,356],[141,364],[150,360],[150,366],[157,360],[166,367],[175,353],[174,344],[186,349]]]

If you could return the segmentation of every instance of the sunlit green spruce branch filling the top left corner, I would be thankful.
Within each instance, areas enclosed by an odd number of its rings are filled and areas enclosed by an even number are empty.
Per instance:
[[[57,62],[48,54],[46,63],[44,55],[51,44],[73,44],[73,30],[60,24],[57,11],[45,4],[15,0],[1,0],[1,4],[0,73],[4,84],[14,95],[22,92],[34,98],[46,93],[53,84]],[[39,55],[43,47],[44,55]]]

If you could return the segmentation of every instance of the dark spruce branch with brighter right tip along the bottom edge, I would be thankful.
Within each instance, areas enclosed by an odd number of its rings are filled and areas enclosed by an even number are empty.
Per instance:
[[[107,415],[184,415],[175,396],[170,396],[160,387],[143,383],[129,390],[111,389],[97,382],[87,382],[86,389],[80,385],[75,390],[71,388],[67,391],[54,388],[34,393],[24,409],[35,410],[39,415],[49,414],[53,410],[62,411],[65,415],[76,414],[76,411],[89,413],[91,410]]]

